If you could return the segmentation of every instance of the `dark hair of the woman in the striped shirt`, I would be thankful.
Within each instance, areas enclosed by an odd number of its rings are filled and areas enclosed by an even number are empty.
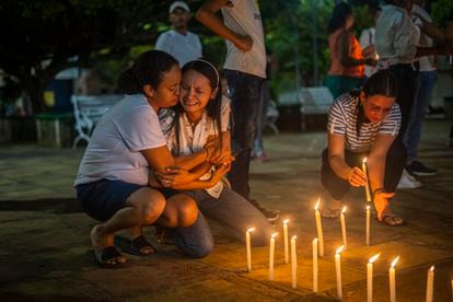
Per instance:
[[[387,69],[379,70],[372,74],[363,84],[362,89],[364,97],[373,95],[383,95],[387,97],[396,97],[398,92],[398,85],[395,77]],[[352,96],[359,97],[360,91],[351,92]],[[363,105],[361,102],[357,102],[357,136],[359,136],[360,128],[365,119]]]

